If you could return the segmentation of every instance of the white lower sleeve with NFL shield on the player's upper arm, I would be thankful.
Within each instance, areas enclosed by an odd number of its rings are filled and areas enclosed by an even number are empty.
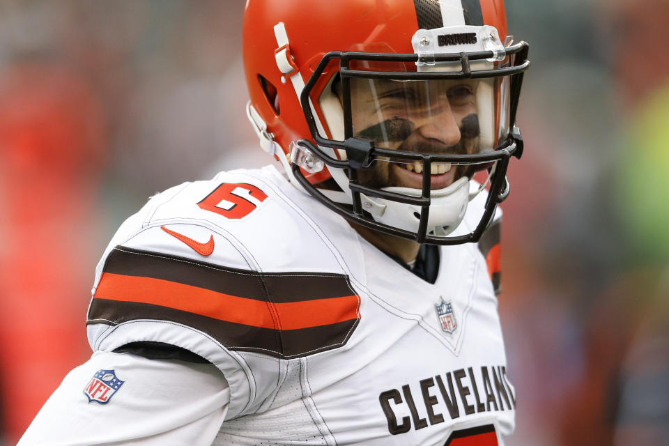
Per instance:
[[[229,397],[213,364],[96,352],[65,377],[19,446],[208,446]]]

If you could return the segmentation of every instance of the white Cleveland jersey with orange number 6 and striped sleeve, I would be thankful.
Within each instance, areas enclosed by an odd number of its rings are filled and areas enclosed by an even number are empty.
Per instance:
[[[273,167],[173,187],[109,244],[96,353],[20,445],[501,445],[516,394],[489,250],[440,247],[430,284]],[[112,353],[137,342],[213,365]]]

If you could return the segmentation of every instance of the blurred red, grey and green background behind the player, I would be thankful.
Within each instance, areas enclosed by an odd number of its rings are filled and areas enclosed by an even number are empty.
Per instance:
[[[0,445],[90,355],[95,264],[149,196],[272,162],[243,0],[0,0]],[[530,43],[502,225],[508,445],[669,445],[669,0],[507,0]]]

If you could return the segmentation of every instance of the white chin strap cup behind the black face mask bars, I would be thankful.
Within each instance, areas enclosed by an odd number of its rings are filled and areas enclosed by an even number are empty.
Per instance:
[[[383,187],[387,192],[420,197],[420,189],[409,187]],[[470,194],[469,179],[460,178],[452,185],[440,190],[433,190],[430,194],[430,215],[427,220],[427,233],[433,236],[447,236],[454,231],[462,222],[467,211],[467,205],[482,187]],[[394,226],[406,231],[417,232],[420,224],[420,213],[422,208],[412,204],[397,203],[381,198],[371,198],[364,194],[362,207],[369,212],[374,220],[379,223]]]

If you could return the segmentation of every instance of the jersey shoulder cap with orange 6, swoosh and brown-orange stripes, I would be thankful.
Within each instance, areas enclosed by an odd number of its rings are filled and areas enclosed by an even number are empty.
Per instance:
[[[89,343],[185,348],[222,370],[235,417],[271,403],[285,360],[337,348],[360,298],[333,249],[273,169],[157,194],[98,264]]]

